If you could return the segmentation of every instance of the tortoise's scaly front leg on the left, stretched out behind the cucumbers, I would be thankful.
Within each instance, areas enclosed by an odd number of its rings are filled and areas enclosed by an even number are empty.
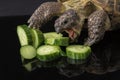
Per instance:
[[[63,13],[63,7],[60,2],[45,2],[41,4],[28,20],[29,27],[39,29],[42,24],[49,21],[52,17]]]

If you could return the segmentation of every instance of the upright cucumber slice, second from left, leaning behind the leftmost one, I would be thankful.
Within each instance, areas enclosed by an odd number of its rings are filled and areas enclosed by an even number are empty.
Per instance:
[[[38,29],[31,29],[32,39],[33,39],[33,46],[37,48],[40,46],[44,41],[43,33]]]

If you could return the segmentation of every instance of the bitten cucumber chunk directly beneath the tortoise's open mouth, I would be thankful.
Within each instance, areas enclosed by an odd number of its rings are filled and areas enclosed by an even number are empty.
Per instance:
[[[45,41],[47,45],[56,45],[56,46],[68,46],[69,37],[62,37],[62,34],[57,34],[56,32],[44,33]]]

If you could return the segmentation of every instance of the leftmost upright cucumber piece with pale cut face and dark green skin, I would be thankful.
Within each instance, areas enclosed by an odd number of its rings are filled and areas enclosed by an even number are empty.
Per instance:
[[[17,34],[21,46],[33,44],[31,31],[27,25],[17,26]]]

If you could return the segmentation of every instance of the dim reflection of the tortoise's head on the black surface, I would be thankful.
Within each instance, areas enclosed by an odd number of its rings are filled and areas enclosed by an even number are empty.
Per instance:
[[[57,68],[59,69],[59,73],[67,77],[75,77],[83,74],[85,72],[84,68],[86,64],[81,64],[79,60],[75,60],[77,63],[73,63],[73,61],[74,60],[62,58],[60,61],[61,64],[57,66]]]

